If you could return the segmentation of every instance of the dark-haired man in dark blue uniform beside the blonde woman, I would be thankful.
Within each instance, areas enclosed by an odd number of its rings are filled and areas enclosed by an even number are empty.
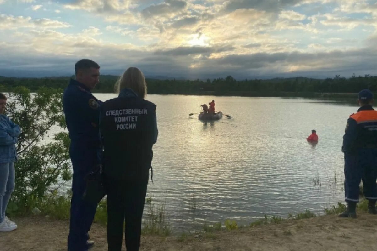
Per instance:
[[[89,59],[75,65],[76,78],[71,79],[63,93],[63,110],[71,139],[69,155],[72,160],[72,200],[68,251],[87,251],[97,205],[82,199],[86,188],[84,177],[99,162],[99,118],[101,101],[90,90],[99,82],[100,66]]]

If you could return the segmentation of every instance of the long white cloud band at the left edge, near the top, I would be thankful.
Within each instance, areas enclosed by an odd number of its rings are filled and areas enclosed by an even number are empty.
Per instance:
[[[69,23],[60,22],[52,19],[35,19],[31,17],[0,14],[0,29],[19,29],[19,28],[67,28]]]

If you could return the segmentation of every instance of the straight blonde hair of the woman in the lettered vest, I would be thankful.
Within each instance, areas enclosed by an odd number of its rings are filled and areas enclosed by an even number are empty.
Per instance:
[[[135,91],[139,98],[145,98],[147,95],[147,83],[141,70],[136,67],[130,67],[116,81],[115,90],[117,93],[126,88]]]

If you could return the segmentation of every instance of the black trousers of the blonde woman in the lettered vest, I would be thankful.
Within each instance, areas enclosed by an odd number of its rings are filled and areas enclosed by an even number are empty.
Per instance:
[[[143,217],[149,175],[139,180],[123,181],[105,178],[107,190],[107,246],[109,251],[121,251],[123,224],[127,251],[140,247],[141,218]]]

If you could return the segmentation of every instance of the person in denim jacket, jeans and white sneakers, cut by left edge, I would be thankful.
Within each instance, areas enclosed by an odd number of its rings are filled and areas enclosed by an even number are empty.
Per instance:
[[[0,232],[9,232],[17,225],[5,216],[9,198],[14,189],[14,161],[17,160],[15,144],[20,127],[4,115],[6,96],[0,93]]]

